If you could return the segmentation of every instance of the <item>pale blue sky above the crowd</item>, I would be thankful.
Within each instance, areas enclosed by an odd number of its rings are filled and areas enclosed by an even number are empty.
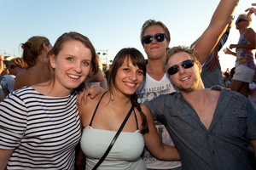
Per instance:
[[[162,21],[171,32],[169,47],[190,46],[207,29],[219,0],[0,0],[0,54],[22,55],[20,43],[44,36],[54,44],[64,32],[77,31],[98,50],[108,50],[108,60],[121,48],[137,48],[145,59],[140,31],[145,20]],[[240,0],[234,15],[245,13],[256,0]],[[236,20],[236,18],[235,18]],[[253,30],[256,30],[253,15]],[[237,43],[234,25],[225,43]],[[101,56],[103,57],[103,56]],[[236,57],[219,53],[222,71]]]

